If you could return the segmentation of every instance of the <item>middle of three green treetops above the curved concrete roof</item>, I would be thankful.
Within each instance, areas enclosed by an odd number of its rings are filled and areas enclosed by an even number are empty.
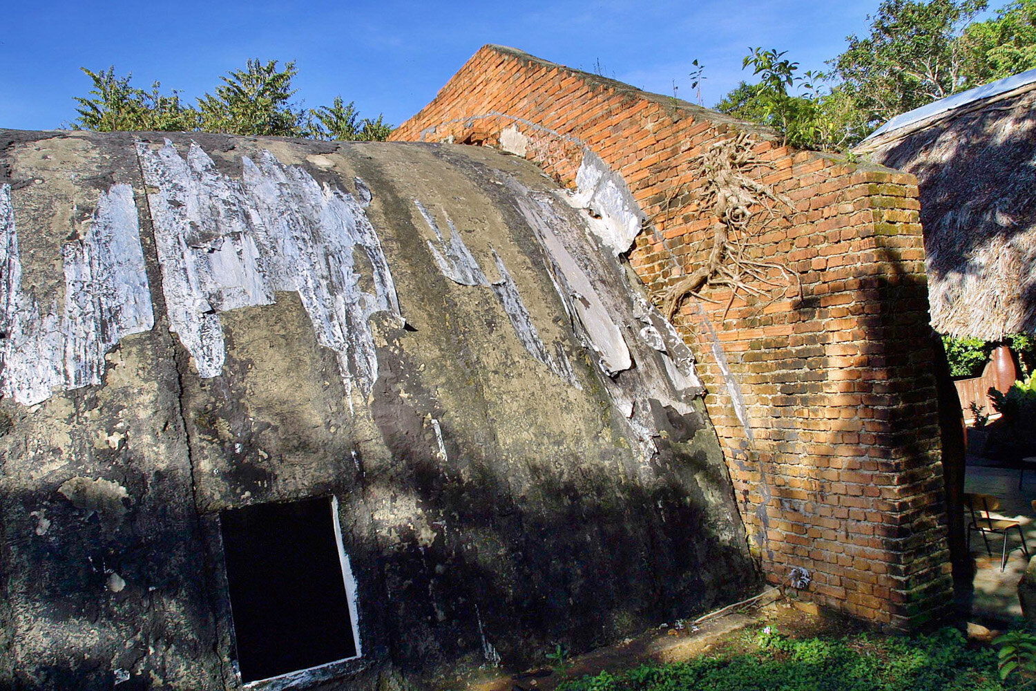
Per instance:
[[[299,137],[305,112],[291,103],[295,63],[278,69],[277,60],[250,59],[244,69],[221,77],[215,94],[198,99],[201,129],[251,137]]]

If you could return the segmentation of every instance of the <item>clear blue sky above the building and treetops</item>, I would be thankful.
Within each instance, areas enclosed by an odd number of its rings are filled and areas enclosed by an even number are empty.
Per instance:
[[[671,2],[319,3],[151,0],[10,2],[0,36],[0,127],[49,129],[76,117],[80,66],[160,80],[193,98],[250,57],[295,60],[306,107],[341,94],[365,116],[398,124],[435,96],[484,44],[502,44],[693,100],[691,61],[704,64],[704,105],[738,81],[749,46],[787,50],[824,68],[879,0]]]

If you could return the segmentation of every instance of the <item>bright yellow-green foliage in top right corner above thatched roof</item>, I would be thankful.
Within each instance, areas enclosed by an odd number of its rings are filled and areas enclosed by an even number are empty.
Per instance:
[[[959,39],[968,87],[1036,67],[1036,0],[1015,0]]]

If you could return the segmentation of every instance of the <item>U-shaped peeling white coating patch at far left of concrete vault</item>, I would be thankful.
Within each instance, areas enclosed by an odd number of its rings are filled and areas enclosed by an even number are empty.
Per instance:
[[[82,239],[62,247],[64,313],[57,300],[41,312],[22,292],[22,264],[10,185],[0,185],[0,311],[2,393],[24,405],[55,388],[99,384],[105,354],[122,337],[153,324],[133,189],[103,192]]]

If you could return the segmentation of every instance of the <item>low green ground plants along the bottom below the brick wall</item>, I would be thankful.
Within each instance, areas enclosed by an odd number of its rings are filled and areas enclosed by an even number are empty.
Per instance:
[[[770,627],[741,651],[566,682],[557,691],[1003,691],[997,653],[956,629],[924,636],[794,639]]]

